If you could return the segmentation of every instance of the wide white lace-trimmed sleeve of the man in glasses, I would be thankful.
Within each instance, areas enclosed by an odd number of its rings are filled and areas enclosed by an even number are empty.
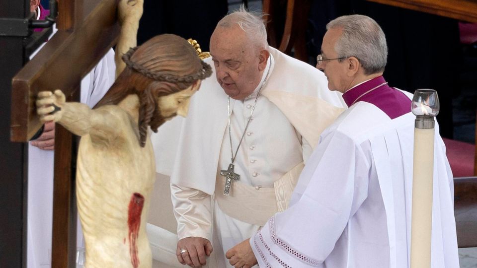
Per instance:
[[[324,137],[300,176],[299,200],[250,240],[260,267],[317,267],[367,198],[369,164],[344,134]]]

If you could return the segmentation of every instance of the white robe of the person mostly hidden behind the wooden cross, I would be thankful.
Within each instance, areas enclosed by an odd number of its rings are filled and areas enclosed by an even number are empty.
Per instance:
[[[55,25],[53,34],[56,31]],[[81,80],[80,101],[92,108],[114,83],[115,70],[114,51],[110,49]],[[54,151],[28,145],[28,268],[47,268],[51,265],[54,155]],[[81,240],[78,225],[78,245]]]

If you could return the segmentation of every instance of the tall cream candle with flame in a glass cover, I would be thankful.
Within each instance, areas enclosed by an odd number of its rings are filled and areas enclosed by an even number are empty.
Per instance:
[[[437,92],[432,89],[416,90],[411,109],[416,115],[412,173],[411,268],[430,268],[434,117],[439,113]]]

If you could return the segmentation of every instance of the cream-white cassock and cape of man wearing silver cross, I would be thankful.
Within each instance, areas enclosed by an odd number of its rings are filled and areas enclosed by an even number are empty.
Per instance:
[[[225,181],[219,173],[228,168],[232,155],[227,95],[215,73],[202,82],[192,97],[189,114],[182,125],[171,176],[178,238],[209,239],[216,254],[209,261],[211,267],[230,267],[225,252],[253,235],[277,211],[275,194],[283,193],[274,188],[274,183],[307,160],[319,133],[342,112],[337,108],[342,107],[342,101],[327,89],[322,72],[273,48],[270,54],[259,85],[268,71],[269,77],[234,162],[240,180],[232,183],[229,197],[222,194],[223,188],[216,186],[216,182]],[[205,61],[212,62],[211,59]],[[234,153],[258,89],[259,86],[243,101],[231,99]],[[236,201],[239,186],[256,194]],[[246,202],[248,204],[244,204]],[[264,211],[265,206],[275,208],[271,212]],[[255,215],[263,220],[256,220]]]

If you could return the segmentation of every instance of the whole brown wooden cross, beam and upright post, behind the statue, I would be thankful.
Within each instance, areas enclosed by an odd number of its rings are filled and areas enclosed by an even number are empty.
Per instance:
[[[10,140],[27,142],[41,127],[38,91],[60,88],[79,101],[79,84],[115,43],[119,0],[60,0],[58,32],[12,79]],[[72,135],[57,125],[53,197],[52,268],[75,267],[76,199]],[[74,167],[73,167],[74,168]],[[34,191],[34,189],[32,189]],[[26,205],[26,204],[25,204]]]

